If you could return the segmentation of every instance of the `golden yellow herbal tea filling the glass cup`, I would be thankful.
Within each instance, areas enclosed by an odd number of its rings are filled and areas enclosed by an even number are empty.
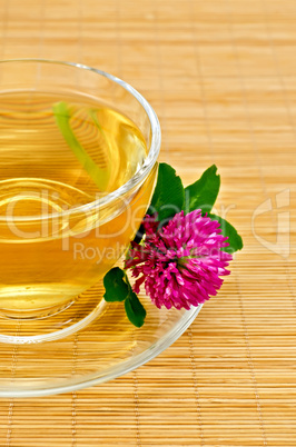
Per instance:
[[[62,308],[110,269],[145,215],[155,169],[116,203],[99,210],[90,203],[126,183],[146,156],[140,130],[103,103],[78,95],[1,95],[3,314]]]

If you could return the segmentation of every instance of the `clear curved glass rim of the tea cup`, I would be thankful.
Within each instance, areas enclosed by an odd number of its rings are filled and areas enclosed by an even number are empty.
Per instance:
[[[134,87],[131,87],[129,83],[125,82],[122,79],[118,78],[117,76],[110,74],[107,71],[86,66],[83,63],[78,63],[78,62],[68,62],[68,61],[59,61],[59,60],[53,60],[53,59],[41,59],[41,58],[17,58],[17,59],[2,59],[0,60],[0,67],[2,63],[11,63],[11,62],[40,62],[40,63],[52,63],[57,66],[65,66],[65,67],[72,67],[72,68],[78,68],[87,71],[95,72],[96,74],[102,76],[110,81],[119,85],[122,87],[125,90],[127,90],[130,95],[134,96],[134,98],[141,105],[141,107],[145,109],[150,126],[151,126],[151,141],[150,146],[148,147],[148,156],[145,159],[142,166],[140,169],[135,172],[135,175],[124,185],[121,185],[119,188],[117,188],[115,191],[109,192],[108,195],[98,198],[89,203],[78,206],[76,208],[69,209],[69,210],[63,210],[61,212],[55,212],[51,215],[43,215],[43,216],[16,216],[13,218],[2,218],[0,217],[0,221],[36,221],[36,220],[46,220],[46,219],[53,219],[58,218],[61,216],[73,216],[76,213],[85,213],[88,211],[91,211],[93,209],[98,210],[100,207],[105,207],[106,205],[109,205],[115,199],[120,198],[125,193],[129,192],[132,188],[135,188],[137,185],[141,183],[151,169],[154,168],[159,151],[160,151],[160,145],[161,145],[161,129],[160,129],[160,123],[158,120],[158,117],[154,110],[154,108],[149,105],[149,102],[144,98],[141,93],[138,92]],[[1,95],[1,93],[0,93]]]

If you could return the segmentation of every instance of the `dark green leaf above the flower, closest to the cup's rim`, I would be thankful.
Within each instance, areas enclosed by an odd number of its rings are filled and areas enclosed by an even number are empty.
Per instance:
[[[184,187],[176,170],[167,163],[159,163],[156,189],[148,215],[158,213],[164,221],[180,212],[184,207]]]

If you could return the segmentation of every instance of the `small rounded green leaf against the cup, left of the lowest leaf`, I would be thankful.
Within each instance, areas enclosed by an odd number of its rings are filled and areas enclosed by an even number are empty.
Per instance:
[[[130,294],[130,285],[126,280],[126,274],[119,267],[109,270],[103,277],[105,300],[108,302],[124,301]]]

